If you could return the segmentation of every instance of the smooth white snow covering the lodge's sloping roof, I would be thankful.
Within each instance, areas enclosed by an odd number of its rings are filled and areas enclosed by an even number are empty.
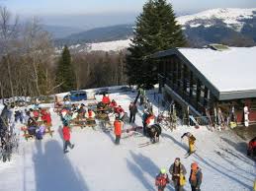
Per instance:
[[[219,92],[256,90],[256,46],[179,48],[179,51],[213,84]]]

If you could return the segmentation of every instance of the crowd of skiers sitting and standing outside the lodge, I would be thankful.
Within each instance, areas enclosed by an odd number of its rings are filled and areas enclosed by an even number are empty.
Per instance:
[[[151,143],[159,142],[159,136],[161,134],[161,127],[157,122],[155,122],[155,116],[153,114],[152,103],[145,98],[145,96],[140,95],[140,106],[142,107],[142,133],[144,136],[149,137]],[[141,109],[140,107],[140,109]],[[115,120],[113,120],[114,133],[116,135],[115,144],[119,145],[124,132],[124,125],[126,122],[129,124],[134,124],[136,119],[136,114],[138,112],[138,107],[136,101],[131,101],[128,106],[129,117],[128,121],[125,121],[125,116],[127,112],[125,109],[117,103],[115,99],[110,99],[109,96],[103,95],[102,101],[97,104],[97,110],[94,111],[92,108],[85,106],[85,104],[71,104],[70,101],[65,100],[62,104],[62,108],[59,112],[60,118],[63,124],[62,135],[64,140],[63,153],[68,153],[68,148],[73,149],[74,144],[71,143],[71,122],[73,120],[86,119],[88,121],[94,121],[97,114],[113,112],[115,115]],[[97,113],[96,113],[97,112]],[[5,149],[7,153],[6,158],[10,158],[11,146],[8,145],[8,140],[10,136],[15,132],[16,123],[26,124],[26,129],[29,135],[35,136],[37,139],[43,139],[43,134],[46,129],[51,127],[51,116],[50,113],[39,106],[35,108],[30,108],[29,110],[17,109],[14,105],[5,105],[1,112],[0,118],[0,136],[1,136],[1,147]],[[189,151],[188,154],[195,152],[195,141],[196,138],[187,132],[182,135],[182,139],[188,138]],[[175,191],[182,191],[184,185],[186,184],[186,174],[187,170],[185,166],[181,163],[181,159],[175,159],[174,163],[169,167],[169,173],[172,176],[172,182],[175,187]],[[198,163],[193,162],[191,164],[191,171],[189,176],[189,183],[191,184],[192,191],[200,191],[200,186],[202,183],[203,173]],[[155,185],[158,191],[164,191],[170,179],[165,168],[161,168],[159,174],[155,178]]]

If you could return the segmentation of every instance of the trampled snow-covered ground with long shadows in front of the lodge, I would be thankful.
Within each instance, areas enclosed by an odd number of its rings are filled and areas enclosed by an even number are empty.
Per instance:
[[[136,95],[110,96],[128,110]],[[139,107],[137,125],[141,125],[141,110]],[[155,106],[154,111],[158,111]],[[202,191],[252,190],[255,162],[245,156],[245,143],[231,132],[181,126],[173,132],[163,130],[159,144],[139,148],[139,144],[148,141],[141,135],[122,139],[121,145],[116,146],[113,132],[73,128],[71,142],[75,148],[63,155],[60,119],[56,113],[51,114],[53,138],[46,135],[43,141],[26,142],[21,136],[19,154],[11,162],[0,162],[1,191],[156,190],[154,177],[159,168],[169,168],[177,157],[188,171],[191,162],[199,163],[203,170]],[[197,138],[197,152],[184,159],[187,142],[181,142],[180,137],[187,131]],[[185,188],[190,190],[188,183]],[[166,190],[174,189],[169,185]]]

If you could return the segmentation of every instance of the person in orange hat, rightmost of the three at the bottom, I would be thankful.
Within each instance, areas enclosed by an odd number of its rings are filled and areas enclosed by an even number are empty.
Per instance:
[[[191,164],[191,171],[190,171],[190,185],[192,191],[200,191],[200,186],[202,183],[203,173],[201,168],[199,167],[197,162],[193,162]]]

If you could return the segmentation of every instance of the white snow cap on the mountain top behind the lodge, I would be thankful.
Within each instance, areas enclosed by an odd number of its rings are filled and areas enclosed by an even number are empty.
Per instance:
[[[213,19],[219,19],[223,23],[227,25],[229,28],[234,28],[236,31],[241,30],[244,22],[241,20],[243,19],[252,19],[253,17],[256,17],[256,14],[253,13],[256,11],[256,8],[252,9],[238,9],[238,8],[225,8],[225,9],[212,9],[200,12],[198,14],[194,15],[188,15],[188,16],[182,16],[177,18],[177,21],[180,25],[190,25],[191,28],[197,27],[196,24],[194,24],[194,21],[199,20],[198,22],[204,20],[213,20]],[[193,21],[192,24],[190,24]]]

